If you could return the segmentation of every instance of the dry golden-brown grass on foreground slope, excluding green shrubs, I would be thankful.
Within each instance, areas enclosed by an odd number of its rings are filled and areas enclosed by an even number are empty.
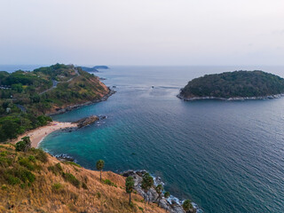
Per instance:
[[[13,146],[0,146],[0,153],[7,148],[9,152],[15,154]],[[14,162],[17,163],[19,156],[31,155],[17,153]],[[55,174],[48,167],[60,163],[62,172],[73,174],[81,186],[78,188],[69,183],[62,175]],[[129,196],[125,193],[125,178],[105,171],[102,177],[114,182],[117,187],[106,185],[99,181],[99,171],[85,170],[75,165],[64,164],[56,158],[48,156],[48,162],[36,161],[40,169],[33,171],[36,181],[30,186],[21,188],[20,185],[9,185],[1,178],[1,172],[9,168],[0,165],[0,212],[165,212],[164,209],[157,208],[156,204],[147,205],[138,194],[132,195],[133,206],[128,204]],[[82,187],[82,183],[88,189]],[[139,209],[140,208],[140,209]],[[143,208],[144,210],[142,211]]]

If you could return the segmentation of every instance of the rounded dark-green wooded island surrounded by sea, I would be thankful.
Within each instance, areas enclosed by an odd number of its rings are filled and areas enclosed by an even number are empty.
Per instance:
[[[284,93],[284,79],[263,71],[234,71],[194,78],[179,99],[273,99]]]

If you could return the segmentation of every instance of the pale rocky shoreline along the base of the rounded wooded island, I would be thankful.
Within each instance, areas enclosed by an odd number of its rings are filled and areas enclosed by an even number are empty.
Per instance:
[[[181,94],[177,95],[178,99],[183,99],[185,101],[193,101],[193,100],[201,100],[201,99],[217,99],[217,100],[256,100],[256,99],[280,99],[283,97],[284,94],[277,94],[277,95],[269,95],[269,96],[256,96],[256,97],[232,97],[232,98],[218,98],[214,96],[206,96],[206,97],[193,97],[193,98],[185,98]]]

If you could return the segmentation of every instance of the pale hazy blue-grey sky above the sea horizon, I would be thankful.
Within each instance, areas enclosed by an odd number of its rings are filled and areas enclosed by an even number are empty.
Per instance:
[[[284,65],[284,0],[0,0],[0,65]]]

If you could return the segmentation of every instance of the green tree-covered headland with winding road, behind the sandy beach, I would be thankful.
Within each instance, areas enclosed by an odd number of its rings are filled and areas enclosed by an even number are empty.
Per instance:
[[[0,72],[0,142],[51,122],[48,114],[98,102],[110,90],[99,77],[73,65]]]

